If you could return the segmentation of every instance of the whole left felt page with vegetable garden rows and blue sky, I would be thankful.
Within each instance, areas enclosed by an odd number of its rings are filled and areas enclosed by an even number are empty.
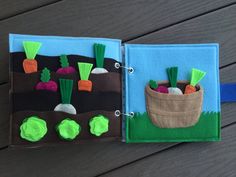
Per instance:
[[[121,41],[10,34],[11,145],[120,138]]]

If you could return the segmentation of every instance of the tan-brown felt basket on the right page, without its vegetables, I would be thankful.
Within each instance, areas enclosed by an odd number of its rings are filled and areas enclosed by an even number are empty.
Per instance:
[[[177,87],[184,90],[189,84],[180,81]],[[168,82],[158,85],[169,86]],[[160,128],[182,128],[195,125],[202,112],[203,89],[196,86],[196,92],[184,95],[159,93],[152,90],[149,84],[145,88],[147,113],[152,123]]]

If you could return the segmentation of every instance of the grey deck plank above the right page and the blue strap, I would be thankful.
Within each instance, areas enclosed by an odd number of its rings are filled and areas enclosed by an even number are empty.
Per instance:
[[[236,5],[132,40],[130,43],[219,43],[220,66],[236,62]]]

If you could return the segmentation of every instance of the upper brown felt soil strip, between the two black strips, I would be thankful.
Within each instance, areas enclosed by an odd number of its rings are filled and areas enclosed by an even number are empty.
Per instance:
[[[13,85],[13,92],[27,92],[34,91],[35,86],[40,82],[40,72],[24,74],[11,73]],[[58,79],[73,79],[74,90],[78,90],[78,81],[80,80],[79,73],[61,75],[51,72],[51,80],[58,82]],[[92,92],[121,92],[121,74],[109,72],[104,74],[90,74],[89,80],[93,83]]]

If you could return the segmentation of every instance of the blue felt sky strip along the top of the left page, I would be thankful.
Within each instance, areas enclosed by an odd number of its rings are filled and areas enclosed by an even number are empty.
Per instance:
[[[122,61],[121,40],[118,39],[10,34],[10,52],[23,52],[22,41],[41,42],[39,54],[46,56],[75,54],[94,57],[93,44],[101,43],[106,45],[105,57]]]

